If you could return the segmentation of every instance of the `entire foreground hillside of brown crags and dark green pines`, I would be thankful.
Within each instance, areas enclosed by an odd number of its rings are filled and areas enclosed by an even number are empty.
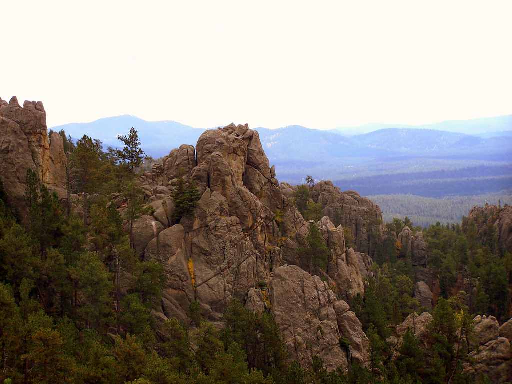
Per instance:
[[[384,224],[332,182],[280,184],[247,125],[144,172],[137,130],[104,148],[45,114],[0,100],[5,384],[512,379],[511,206]]]

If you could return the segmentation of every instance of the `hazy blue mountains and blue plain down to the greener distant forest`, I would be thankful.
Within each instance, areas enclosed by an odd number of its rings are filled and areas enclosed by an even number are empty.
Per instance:
[[[463,121],[460,126],[441,124],[436,127],[450,131],[397,125],[352,136],[300,125],[255,130],[280,181],[301,183],[311,175],[362,195],[442,197],[512,189],[512,117]],[[205,132],[175,121],[152,122],[135,116],[52,129],[63,129],[75,139],[87,134],[105,147],[116,147],[120,145],[117,136],[127,134],[132,126],[146,154],[154,158],[168,155],[181,144],[196,145]],[[372,127],[378,126],[382,127]]]

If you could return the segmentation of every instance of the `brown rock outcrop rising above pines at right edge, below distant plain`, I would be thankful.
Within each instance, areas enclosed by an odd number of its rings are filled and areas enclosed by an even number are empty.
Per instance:
[[[463,222],[463,230],[473,233],[480,241],[488,242],[495,236],[502,253],[512,252],[512,206],[498,207],[486,204],[484,207],[474,207]]]

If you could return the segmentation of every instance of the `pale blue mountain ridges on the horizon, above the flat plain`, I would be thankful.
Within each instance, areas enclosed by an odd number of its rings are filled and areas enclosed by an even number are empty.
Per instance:
[[[339,132],[320,131],[300,125],[290,125],[276,130],[257,128],[265,151],[271,161],[296,159],[318,161],[323,158],[375,159],[402,155],[414,156],[470,156],[470,158],[500,157],[512,153],[512,116],[463,121],[465,127],[483,126],[493,132],[481,136],[440,131],[440,126],[456,128],[456,122],[429,125],[432,129],[418,127],[396,127],[390,124],[367,134],[344,136]],[[119,145],[117,135],[125,134],[134,126],[139,131],[147,154],[161,157],[168,148],[185,143],[195,145],[204,132],[176,121],[149,122],[135,116],[124,115],[99,119],[91,123],[72,123],[53,127],[65,130],[68,135],[79,138],[87,134],[101,140],[105,146]],[[382,126],[382,125],[380,125]],[[376,127],[376,126],[375,126]],[[496,131],[502,129],[504,131]],[[500,134],[502,136],[500,136]]]

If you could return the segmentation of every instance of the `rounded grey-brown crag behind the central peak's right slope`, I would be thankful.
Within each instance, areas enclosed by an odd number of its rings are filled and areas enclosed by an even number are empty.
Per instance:
[[[330,181],[317,183],[311,196],[324,207],[324,215],[336,225],[350,229],[353,248],[372,257],[377,244],[382,242],[384,227],[378,205],[354,191],[342,192]]]

